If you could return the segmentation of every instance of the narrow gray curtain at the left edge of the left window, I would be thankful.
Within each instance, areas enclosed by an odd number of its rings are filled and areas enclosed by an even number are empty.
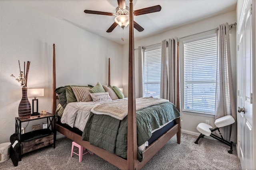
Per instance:
[[[139,98],[142,98],[143,97],[143,92],[144,92],[144,82],[143,82],[143,77],[144,77],[144,51],[145,49],[142,48],[142,46],[139,46],[138,47],[138,51],[139,51],[139,54],[138,54],[138,86],[139,86],[139,91],[138,91],[138,97]]]

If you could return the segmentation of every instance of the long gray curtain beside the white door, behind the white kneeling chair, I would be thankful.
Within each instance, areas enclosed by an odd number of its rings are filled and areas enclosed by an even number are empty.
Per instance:
[[[218,27],[218,57],[216,78],[215,119],[232,115],[236,120],[236,105],[232,81],[230,37],[228,23]],[[220,129],[227,141],[236,142],[236,123]]]

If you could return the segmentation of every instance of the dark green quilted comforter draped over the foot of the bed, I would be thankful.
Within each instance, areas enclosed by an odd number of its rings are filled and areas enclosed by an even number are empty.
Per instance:
[[[154,129],[180,116],[179,111],[170,102],[157,104],[136,111],[137,146],[150,139]],[[108,152],[127,158],[127,119],[118,120],[108,115],[90,113],[82,134],[82,140],[91,145],[108,150]],[[138,149],[138,160],[143,160],[142,151]]]

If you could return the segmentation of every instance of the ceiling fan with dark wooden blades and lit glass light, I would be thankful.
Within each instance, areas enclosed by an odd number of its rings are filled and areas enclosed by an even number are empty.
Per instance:
[[[98,15],[106,15],[106,16],[116,16],[115,22],[108,28],[107,32],[110,33],[114,30],[117,25],[120,25],[122,29],[129,24],[129,7],[125,4],[126,0],[117,0],[118,7],[116,8],[116,14],[110,12],[101,12],[101,11],[92,11],[92,10],[84,10],[86,14],[98,14]],[[134,11],[134,16],[139,16],[143,14],[149,14],[153,12],[159,12],[161,10],[160,5],[151,6],[148,8],[143,8],[140,10]],[[139,32],[143,31],[144,28],[140,26],[138,23],[134,21],[134,28]]]

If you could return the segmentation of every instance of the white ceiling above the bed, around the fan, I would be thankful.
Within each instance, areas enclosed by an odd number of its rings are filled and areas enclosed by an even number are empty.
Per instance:
[[[17,2],[116,43],[128,43],[128,27],[124,28],[124,41],[121,40],[122,29],[119,25],[111,33],[106,32],[114,22],[114,16],[84,13],[84,10],[115,13],[117,0],[17,0]],[[144,28],[142,32],[134,29],[134,37],[141,39],[186,23],[234,11],[236,2],[237,0],[134,0],[134,10],[155,5],[162,7],[160,12],[134,16],[134,21]],[[126,0],[126,6],[129,6],[129,0]]]

